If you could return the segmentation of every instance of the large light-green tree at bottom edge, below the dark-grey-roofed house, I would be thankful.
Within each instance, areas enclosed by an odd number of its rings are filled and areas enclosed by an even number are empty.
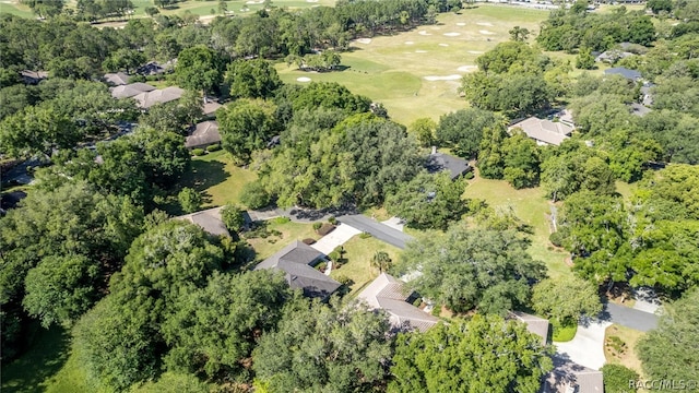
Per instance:
[[[252,369],[272,392],[370,391],[388,378],[391,341],[381,312],[359,303],[304,298],[284,307],[276,330],[262,335]]]

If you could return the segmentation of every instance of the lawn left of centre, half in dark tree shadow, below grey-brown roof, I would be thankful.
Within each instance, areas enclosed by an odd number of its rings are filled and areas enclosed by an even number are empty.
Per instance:
[[[203,207],[222,206],[228,202],[240,204],[240,190],[257,179],[257,174],[233,164],[224,151],[192,158],[191,169],[182,176],[181,187],[203,193]]]

